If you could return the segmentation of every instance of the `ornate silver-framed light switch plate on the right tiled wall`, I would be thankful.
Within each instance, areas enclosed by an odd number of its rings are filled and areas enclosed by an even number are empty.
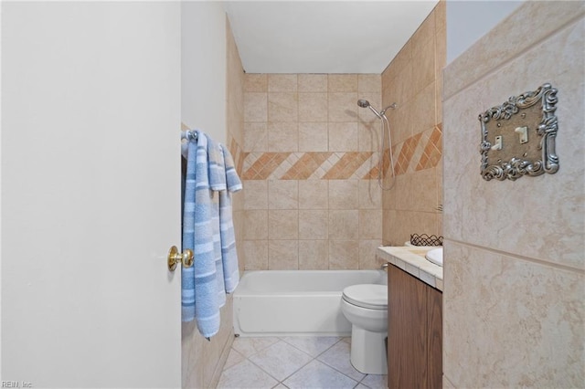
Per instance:
[[[543,84],[479,115],[484,180],[557,173],[557,101],[557,89]]]

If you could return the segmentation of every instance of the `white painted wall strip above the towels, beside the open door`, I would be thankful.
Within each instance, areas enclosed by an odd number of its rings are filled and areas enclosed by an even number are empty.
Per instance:
[[[181,5],[181,120],[226,140],[226,14],[221,2]]]

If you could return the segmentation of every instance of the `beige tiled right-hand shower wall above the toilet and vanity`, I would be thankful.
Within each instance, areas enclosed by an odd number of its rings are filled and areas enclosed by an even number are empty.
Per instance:
[[[441,1],[382,73],[382,105],[392,131],[395,183],[383,195],[384,245],[410,234],[441,235],[441,71],[446,61]],[[386,173],[385,185],[391,184]]]

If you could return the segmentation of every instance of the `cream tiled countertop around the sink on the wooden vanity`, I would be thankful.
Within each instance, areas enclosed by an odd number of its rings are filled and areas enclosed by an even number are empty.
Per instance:
[[[376,256],[442,291],[442,268],[424,258],[433,248],[437,247],[378,247]]]

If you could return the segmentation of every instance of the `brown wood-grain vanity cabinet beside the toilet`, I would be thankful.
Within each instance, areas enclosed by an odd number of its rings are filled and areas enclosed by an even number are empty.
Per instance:
[[[388,388],[441,388],[442,293],[388,265]]]

